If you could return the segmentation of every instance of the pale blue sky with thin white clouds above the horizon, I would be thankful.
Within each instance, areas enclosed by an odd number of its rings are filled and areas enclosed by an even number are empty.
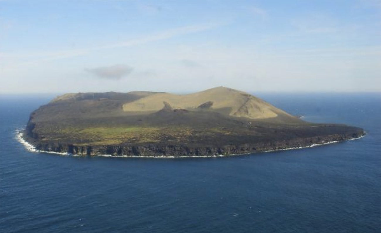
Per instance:
[[[0,1],[0,92],[379,92],[381,1]]]

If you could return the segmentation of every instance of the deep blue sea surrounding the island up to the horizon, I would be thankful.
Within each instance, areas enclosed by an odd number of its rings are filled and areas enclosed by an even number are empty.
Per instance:
[[[2,232],[380,232],[380,94],[259,97],[359,140],[224,158],[30,153],[15,140],[53,96],[1,96]]]

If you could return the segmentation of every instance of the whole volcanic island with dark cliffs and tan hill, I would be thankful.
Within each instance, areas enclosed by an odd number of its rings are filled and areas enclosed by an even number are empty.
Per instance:
[[[30,114],[23,140],[37,151],[79,155],[228,156],[359,138],[343,124],[315,124],[248,93],[216,87],[166,92],[69,93]]]

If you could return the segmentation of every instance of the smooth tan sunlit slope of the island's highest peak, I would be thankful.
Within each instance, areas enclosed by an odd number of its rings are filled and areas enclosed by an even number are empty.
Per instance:
[[[251,119],[267,119],[277,116],[296,118],[255,96],[226,87],[216,87],[188,95],[157,93],[123,104],[123,111],[138,114],[155,112],[162,109],[165,102],[173,109],[187,109],[189,111],[203,109]]]

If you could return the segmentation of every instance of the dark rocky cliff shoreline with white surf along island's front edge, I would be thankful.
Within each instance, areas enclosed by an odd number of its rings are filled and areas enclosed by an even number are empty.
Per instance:
[[[333,134],[306,138],[294,138],[288,141],[267,141],[245,143],[242,145],[197,146],[197,145],[164,145],[147,143],[145,145],[73,145],[45,143],[19,132],[18,138],[30,151],[73,154],[80,156],[118,156],[118,157],[215,157],[239,154],[277,151],[314,147],[340,141],[361,138],[365,132]]]

